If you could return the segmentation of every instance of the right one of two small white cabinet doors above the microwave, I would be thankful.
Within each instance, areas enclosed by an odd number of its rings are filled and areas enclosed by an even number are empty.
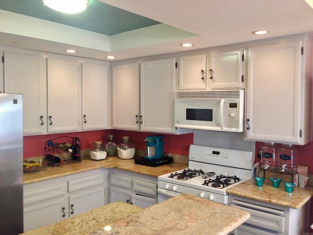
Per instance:
[[[210,54],[208,82],[212,89],[242,88],[242,50]]]

